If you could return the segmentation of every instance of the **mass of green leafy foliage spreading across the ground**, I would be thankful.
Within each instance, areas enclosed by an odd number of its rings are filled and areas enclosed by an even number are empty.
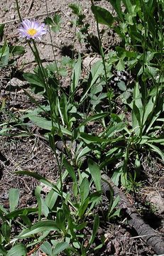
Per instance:
[[[84,79],[81,55],[75,60],[62,58],[60,62],[43,67],[37,44],[28,42],[38,67],[33,73],[24,73],[23,77],[31,84],[33,92],[41,93],[45,100],[38,105],[28,95],[37,106],[27,111],[21,121],[28,118],[46,131],[45,137],[58,163],[59,179],[53,183],[30,171],[17,171],[17,174],[33,176],[48,186],[49,191],[42,196],[43,187],[37,186],[37,207],[22,209],[17,208],[18,189],[9,191],[9,210],[0,206],[0,255],[26,255],[35,245],[40,245],[47,255],[60,252],[89,255],[100,250],[105,242],[104,235],[99,245],[94,242],[101,225],[97,208],[102,203],[102,171],[112,166],[113,181],[133,191],[140,184],[136,179],[141,172],[142,154],[151,152],[164,160],[163,2],[106,1],[113,6],[115,16],[91,2],[102,60],[92,65]],[[80,33],[87,34],[82,9],[75,4],[70,7],[77,16],[74,26],[80,26]],[[60,29],[59,15],[45,22],[55,33]],[[104,53],[99,23],[106,29],[113,29],[121,38],[112,52]],[[4,56],[5,50],[1,52]],[[69,69],[72,76],[67,90],[60,81]],[[111,83],[114,72],[124,71],[131,74],[133,80],[129,83],[119,80],[114,87]],[[82,89],[80,96],[79,89]],[[121,102],[122,112],[116,111],[116,102]],[[91,122],[97,126],[94,131],[89,129]],[[56,138],[64,149],[60,159]],[[72,181],[69,191],[63,188],[67,178]],[[102,211],[104,221],[119,215],[116,210],[119,198],[113,197],[111,188],[109,191],[108,210]],[[19,231],[14,234],[16,225]],[[87,228],[92,230],[89,238],[84,235]]]

